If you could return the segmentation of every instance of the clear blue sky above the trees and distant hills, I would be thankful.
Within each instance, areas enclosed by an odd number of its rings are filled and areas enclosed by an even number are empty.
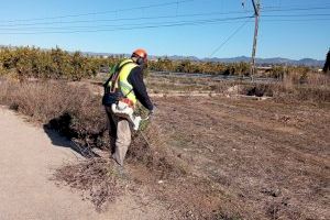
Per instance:
[[[153,55],[209,57],[232,36],[212,56],[250,56],[254,20],[245,16],[253,14],[253,7],[250,0],[244,1],[244,8],[242,2],[3,1],[0,44],[43,48],[58,45],[68,51],[107,53],[131,53],[144,47]],[[261,3],[257,57],[324,59],[330,47],[329,0],[261,0]],[[182,25],[187,23],[194,25]]]

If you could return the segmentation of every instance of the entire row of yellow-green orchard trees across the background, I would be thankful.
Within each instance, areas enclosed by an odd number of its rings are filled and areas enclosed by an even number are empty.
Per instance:
[[[80,52],[69,53],[58,47],[41,50],[35,47],[1,47],[0,74],[13,74],[18,78],[53,78],[79,80],[90,78],[99,72],[108,72],[122,56],[89,56]],[[329,53],[328,53],[329,69]],[[249,76],[249,63],[224,64],[218,62],[172,61],[167,57],[148,62],[150,72],[199,73],[212,75]],[[326,68],[326,67],[324,67]],[[299,73],[301,78],[311,72],[309,67],[274,66],[262,73],[265,77],[283,78]]]

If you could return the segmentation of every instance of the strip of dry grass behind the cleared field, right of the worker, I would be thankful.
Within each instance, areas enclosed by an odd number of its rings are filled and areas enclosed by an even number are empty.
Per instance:
[[[153,92],[222,92],[239,85],[239,94],[248,96],[274,97],[279,102],[324,102],[330,101],[330,77],[316,73],[290,73],[278,82],[213,81],[207,78],[176,78],[170,76],[150,77],[148,86]]]

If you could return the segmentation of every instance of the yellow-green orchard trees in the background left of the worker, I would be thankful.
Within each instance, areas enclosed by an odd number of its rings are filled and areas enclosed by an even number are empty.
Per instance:
[[[0,72],[11,73],[18,78],[53,78],[79,80],[95,76],[100,67],[110,66],[112,58],[88,57],[80,52],[68,53],[58,47],[1,47]]]

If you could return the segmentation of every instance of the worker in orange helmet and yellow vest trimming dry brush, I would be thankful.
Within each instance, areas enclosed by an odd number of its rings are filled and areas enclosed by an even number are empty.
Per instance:
[[[113,105],[121,102],[134,110],[139,100],[148,110],[150,116],[154,113],[154,106],[143,81],[146,65],[147,54],[139,48],[132,53],[131,58],[123,59],[110,70],[110,78],[103,85],[102,103],[108,116],[111,155],[120,166],[123,166],[131,144],[132,124],[128,118],[113,112]]]

